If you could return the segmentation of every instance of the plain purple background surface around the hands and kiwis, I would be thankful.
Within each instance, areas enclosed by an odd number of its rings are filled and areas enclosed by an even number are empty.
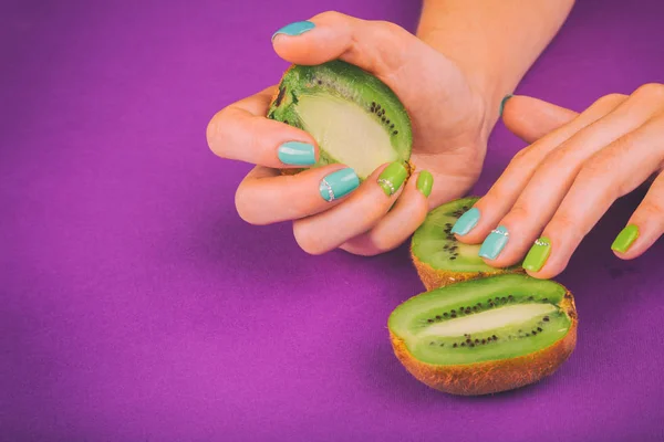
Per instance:
[[[558,280],[577,351],[515,392],[456,398],[398,364],[406,248],[312,257],[235,212],[246,164],[205,128],[274,83],[281,25],[335,9],[414,30],[409,0],[2,1],[0,439],[664,440],[664,241],[609,245],[619,201]],[[518,92],[582,109],[664,82],[664,2],[580,0]],[[522,144],[490,140],[484,192]]]

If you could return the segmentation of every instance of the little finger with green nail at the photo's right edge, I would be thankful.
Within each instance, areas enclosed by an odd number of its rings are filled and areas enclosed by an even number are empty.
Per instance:
[[[662,233],[664,233],[664,173],[661,172],[611,249],[621,260],[633,260],[649,250]]]

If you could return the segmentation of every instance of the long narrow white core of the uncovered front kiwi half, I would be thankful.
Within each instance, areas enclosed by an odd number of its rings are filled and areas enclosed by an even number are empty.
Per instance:
[[[556,309],[552,304],[510,305],[432,325],[423,330],[423,336],[447,337],[481,333],[526,323],[537,316],[553,313]]]

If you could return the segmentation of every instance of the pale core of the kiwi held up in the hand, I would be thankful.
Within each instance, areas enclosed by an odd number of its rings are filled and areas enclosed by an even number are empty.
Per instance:
[[[369,177],[375,165],[398,159],[387,129],[356,103],[331,95],[302,94],[297,107],[304,130],[361,178]]]

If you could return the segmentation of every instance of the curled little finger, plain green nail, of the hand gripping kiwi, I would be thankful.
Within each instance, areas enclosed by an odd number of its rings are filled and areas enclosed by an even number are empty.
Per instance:
[[[400,246],[426,218],[430,187],[423,189],[421,183],[432,179],[427,171],[411,177],[392,210],[373,229],[346,241],[341,249],[356,255],[372,256]]]

